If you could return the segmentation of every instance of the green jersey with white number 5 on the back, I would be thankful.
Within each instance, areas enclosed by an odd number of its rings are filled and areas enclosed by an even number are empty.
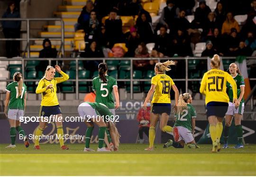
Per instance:
[[[113,86],[117,86],[117,80],[106,76],[107,83],[103,83],[101,78],[95,77],[92,80],[92,90],[96,91],[96,102],[105,104],[109,109],[115,108],[112,95]]]

